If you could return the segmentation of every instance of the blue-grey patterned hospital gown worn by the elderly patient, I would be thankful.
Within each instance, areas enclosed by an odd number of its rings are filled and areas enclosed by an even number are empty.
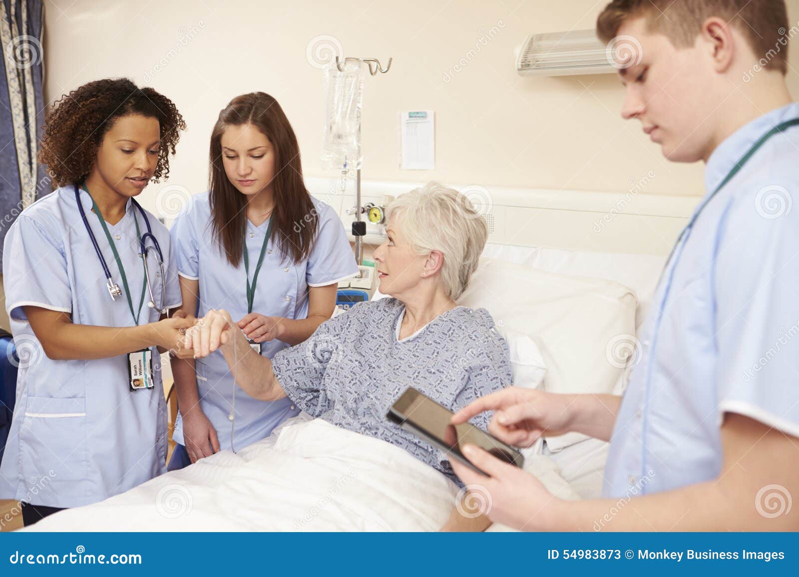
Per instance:
[[[360,302],[323,322],[311,338],[281,350],[272,369],[306,413],[377,437],[459,483],[439,449],[388,421],[409,386],[457,410],[511,385],[510,354],[485,309],[458,306],[400,341],[405,306],[396,298]],[[472,419],[486,430],[490,413]]]

